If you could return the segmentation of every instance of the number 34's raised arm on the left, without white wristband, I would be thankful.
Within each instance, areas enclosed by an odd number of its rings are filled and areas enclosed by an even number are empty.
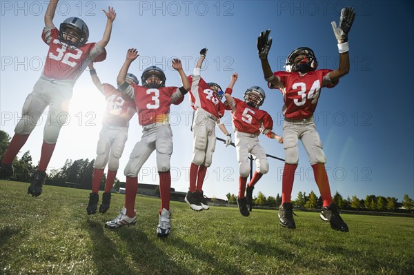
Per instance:
[[[277,86],[279,85],[279,78],[273,75],[273,70],[270,68],[267,59],[270,47],[272,46],[272,37],[269,38],[269,34],[270,30],[260,32],[259,37],[257,37],[257,51],[259,52],[259,59],[262,62],[264,79],[273,86]]]

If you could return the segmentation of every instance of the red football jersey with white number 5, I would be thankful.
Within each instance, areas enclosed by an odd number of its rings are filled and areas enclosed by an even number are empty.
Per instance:
[[[233,125],[239,132],[259,134],[273,129],[273,119],[264,111],[250,107],[244,101],[235,99],[236,110],[233,113]]]

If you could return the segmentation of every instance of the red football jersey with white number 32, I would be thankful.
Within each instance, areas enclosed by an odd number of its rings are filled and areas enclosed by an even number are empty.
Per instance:
[[[43,29],[41,38],[49,45],[43,75],[50,79],[76,81],[90,63],[86,62],[86,59],[93,60],[105,51],[96,48],[92,52],[95,43],[88,43],[81,48],[71,48],[59,40],[57,28]]]

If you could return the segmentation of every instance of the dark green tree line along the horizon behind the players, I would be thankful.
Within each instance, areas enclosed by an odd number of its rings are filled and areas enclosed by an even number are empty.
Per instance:
[[[8,143],[10,142],[10,136],[0,130],[0,156],[3,158],[3,154],[6,152]],[[32,174],[37,170],[37,165],[33,165],[32,156],[30,151],[25,152],[21,158],[16,157],[13,161],[14,175],[10,180],[28,182],[31,179]],[[54,169],[48,172],[48,179],[46,179],[47,185],[56,185],[62,187],[77,187],[81,189],[92,189],[92,174],[94,169],[95,159],[89,161],[88,159],[77,159],[72,161],[67,159],[63,167]],[[103,174],[101,187],[103,190],[106,182],[106,174]],[[119,179],[115,179],[115,189],[119,187],[125,187],[125,183],[120,182]],[[235,194],[226,194],[228,203],[236,203]],[[374,194],[367,195],[364,199],[359,199],[357,196],[348,196],[343,198],[339,192],[335,192],[333,201],[337,204],[339,209],[342,210],[368,210],[368,211],[380,211],[380,212],[395,212],[400,207],[404,207],[407,211],[412,212],[414,210],[414,201],[404,194],[402,202],[398,202],[395,197],[389,196],[375,196]],[[266,197],[262,192],[259,192],[253,199],[253,205],[262,207],[279,207],[282,203],[282,198],[279,194],[276,197]],[[322,208],[322,198],[317,196],[315,192],[306,194],[306,192],[299,192],[297,198],[293,201],[293,204],[297,208],[319,209]]]

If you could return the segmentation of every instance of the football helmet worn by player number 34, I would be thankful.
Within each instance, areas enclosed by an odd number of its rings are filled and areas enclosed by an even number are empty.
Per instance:
[[[304,55],[303,59],[295,62],[295,58]],[[311,72],[317,68],[317,60],[313,50],[308,47],[300,47],[290,52],[285,64],[286,72]]]

